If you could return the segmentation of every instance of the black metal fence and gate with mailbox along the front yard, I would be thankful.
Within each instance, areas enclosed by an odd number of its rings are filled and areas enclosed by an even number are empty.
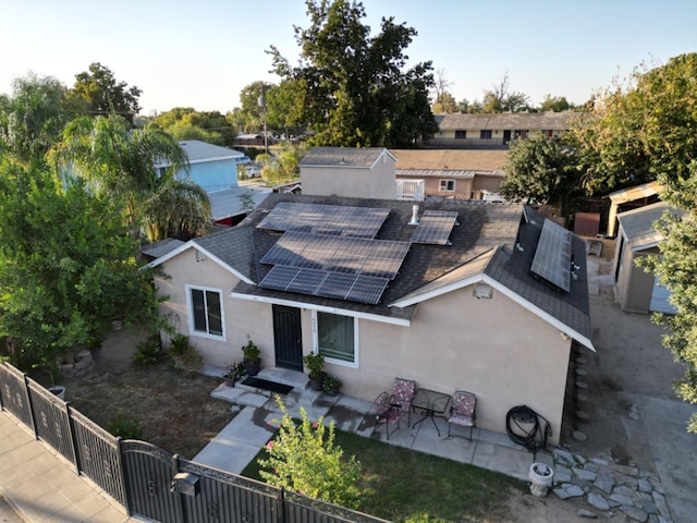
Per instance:
[[[25,424],[129,515],[162,523],[386,521],[114,437],[8,363],[0,364],[0,410]]]

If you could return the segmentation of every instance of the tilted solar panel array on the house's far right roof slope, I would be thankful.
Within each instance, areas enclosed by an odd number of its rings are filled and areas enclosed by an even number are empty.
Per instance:
[[[571,289],[571,233],[545,220],[530,270],[566,292]]]

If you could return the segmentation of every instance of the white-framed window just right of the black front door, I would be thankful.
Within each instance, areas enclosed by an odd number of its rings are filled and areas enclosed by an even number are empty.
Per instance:
[[[317,312],[317,352],[333,363],[358,364],[357,323],[351,316]]]

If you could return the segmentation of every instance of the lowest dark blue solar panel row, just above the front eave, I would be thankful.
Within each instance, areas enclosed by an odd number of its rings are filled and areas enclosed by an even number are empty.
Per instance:
[[[259,287],[376,305],[389,281],[388,278],[277,265]]]

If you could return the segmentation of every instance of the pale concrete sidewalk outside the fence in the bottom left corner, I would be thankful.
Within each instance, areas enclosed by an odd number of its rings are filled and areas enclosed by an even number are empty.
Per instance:
[[[50,447],[0,412],[0,495],[27,523],[135,522]]]

